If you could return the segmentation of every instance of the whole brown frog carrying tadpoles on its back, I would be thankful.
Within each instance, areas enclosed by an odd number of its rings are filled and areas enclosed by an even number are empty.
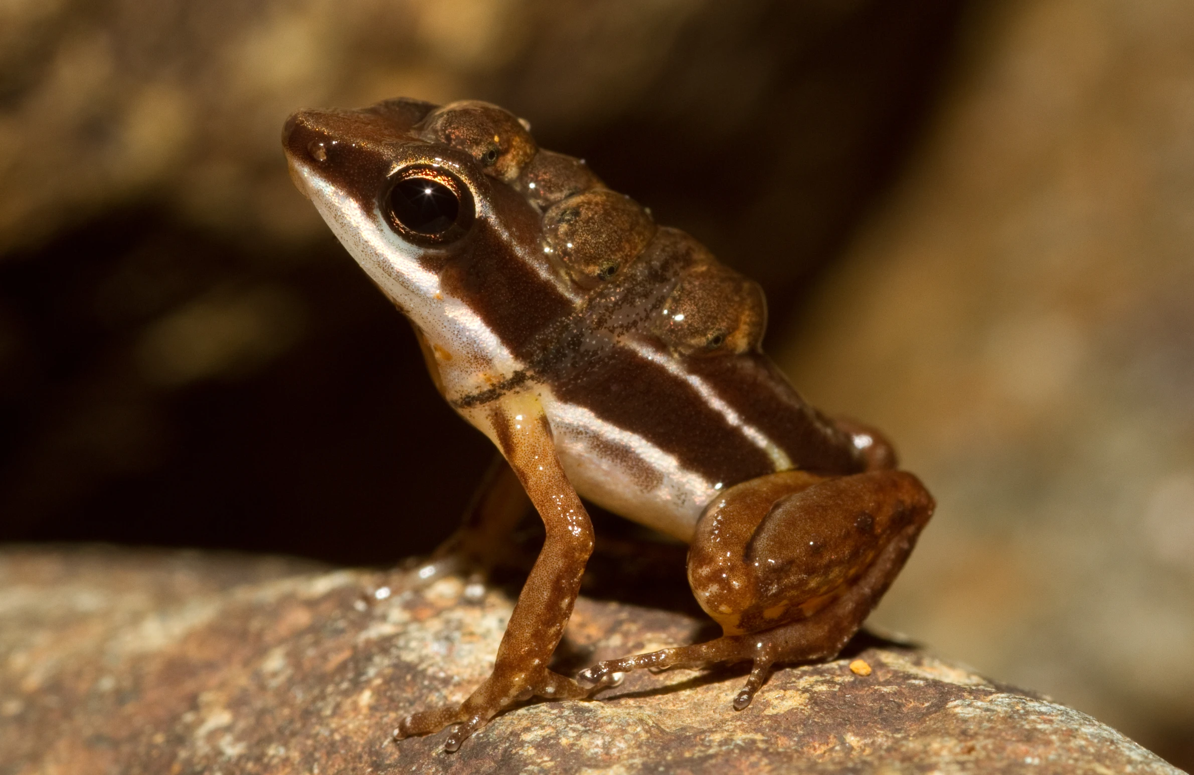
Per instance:
[[[838,653],[934,500],[878,432],[805,404],[763,355],[756,283],[494,105],[301,111],[283,144],[436,387],[509,463],[449,552],[482,558],[523,492],[547,529],[492,675],[399,737],[455,725],[455,750],[518,701],[586,699],[640,668],[750,660],[743,709],[774,664]],[[599,663],[589,685],[552,671],[593,547],[581,496],[688,542],[724,635]]]

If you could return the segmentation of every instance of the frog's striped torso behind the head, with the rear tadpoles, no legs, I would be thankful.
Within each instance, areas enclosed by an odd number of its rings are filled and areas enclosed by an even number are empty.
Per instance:
[[[704,506],[738,482],[792,468],[862,470],[853,437],[762,352],[765,318],[756,283],[660,227],[544,330],[533,362],[578,491],[687,540]]]

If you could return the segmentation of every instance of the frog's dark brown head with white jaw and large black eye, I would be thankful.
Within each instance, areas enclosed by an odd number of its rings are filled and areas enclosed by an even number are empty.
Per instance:
[[[510,112],[410,99],[306,110],[282,142],[295,184],[357,263],[468,368],[517,370],[535,332],[573,310],[574,283],[543,251],[542,211],[599,182],[540,152]]]

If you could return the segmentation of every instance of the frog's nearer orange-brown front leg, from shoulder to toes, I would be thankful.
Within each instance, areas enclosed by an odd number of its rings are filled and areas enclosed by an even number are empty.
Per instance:
[[[593,547],[592,523],[555,456],[550,426],[537,400],[525,395],[507,399],[490,413],[487,424],[538,510],[547,537],[518,595],[490,677],[461,705],[416,713],[399,725],[398,737],[402,738],[457,724],[444,745],[449,751],[519,700],[589,696],[572,678],[547,665],[580,591],[580,577]]]

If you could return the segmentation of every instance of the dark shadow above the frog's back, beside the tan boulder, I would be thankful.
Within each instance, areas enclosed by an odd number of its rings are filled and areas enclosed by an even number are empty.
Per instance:
[[[617,121],[538,140],[759,281],[775,336],[900,171],[974,5],[780,2],[750,25],[725,6]]]

